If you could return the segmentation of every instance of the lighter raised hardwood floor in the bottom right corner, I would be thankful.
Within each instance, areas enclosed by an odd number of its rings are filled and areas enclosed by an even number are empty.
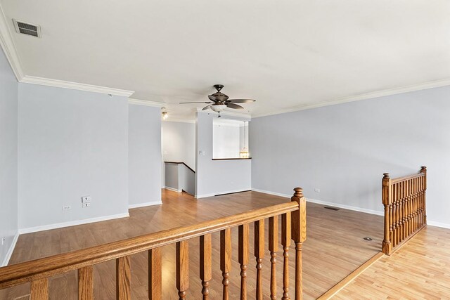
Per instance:
[[[450,230],[424,228],[333,299],[450,299]]]

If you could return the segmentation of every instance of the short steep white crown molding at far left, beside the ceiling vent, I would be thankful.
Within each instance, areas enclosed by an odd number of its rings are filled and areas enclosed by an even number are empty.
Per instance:
[[[23,70],[20,63],[19,57],[17,55],[17,49],[11,36],[11,32],[8,27],[8,20],[0,6],[0,46],[3,49],[6,59],[8,60],[11,69],[13,69],[15,78],[17,81],[23,79]]]

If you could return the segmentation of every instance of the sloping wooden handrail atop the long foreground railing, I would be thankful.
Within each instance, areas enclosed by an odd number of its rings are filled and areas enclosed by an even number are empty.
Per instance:
[[[156,247],[162,247],[174,242],[181,242],[192,237],[214,233],[231,227],[259,221],[272,216],[286,214],[299,209],[298,202],[276,204],[271,207],[254,209],[219,219],[202,221],[190,226],[162,230],[148,233],[126,240],[101,244],[73,252],[49,256],[33,261],[14,264],[0,268],[0,289],[13,287],[32,280],[49,278],[53,275],[92,266],[104,261],[118,259],[123,256],[136,254]]]

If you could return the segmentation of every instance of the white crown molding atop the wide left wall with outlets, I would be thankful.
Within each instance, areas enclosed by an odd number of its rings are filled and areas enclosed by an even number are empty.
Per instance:
[[[116,96],[131,96],[134,91],[127,91],[122,89],[113,89],[105,86],[93,86],[91,84],[79,84],[77,82],[63,81],[58,79],[48,79],[34,76],[25,76],[20,82],[25,84],[39,84],[41,86],[54,86],[63,89],[75,89],[79,91],[91,91],[94,93],[108,93]]]

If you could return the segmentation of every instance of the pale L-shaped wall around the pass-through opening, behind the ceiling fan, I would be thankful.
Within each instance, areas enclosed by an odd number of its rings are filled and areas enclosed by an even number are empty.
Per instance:
[[[214,117],[217,117],[217,113],[197,113],[196,197],[209,197],[251,188],[251,159],[212,160]],[[205,155],[199,155],[199,151],[205,152]]]

